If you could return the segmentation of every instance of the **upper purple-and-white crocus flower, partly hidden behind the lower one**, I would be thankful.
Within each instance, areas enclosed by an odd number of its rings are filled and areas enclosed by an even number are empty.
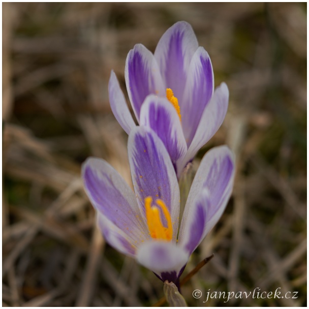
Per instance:
[[[139,125],[161,138],[179,178],[222,125],[228,107],[227,85],[222,83],[213,91],[209,55],[184,21],[166,31],[154,54],[142,44],[135,45],[127,57],[125,78]],[[136,125],[113,71],[108,92],[111,109],[129,134]]]

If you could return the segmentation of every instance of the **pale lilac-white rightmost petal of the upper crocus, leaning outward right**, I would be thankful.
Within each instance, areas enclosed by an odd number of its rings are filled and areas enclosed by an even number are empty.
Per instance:
[[[214,91],[214,94],[204,109],[202,118],[196,130],[191,145],[188,148],[186,157],[178,162],[179,172],[190,162],[199,149],[204,146],[210,138],[218,131],[225,118],[229,104],[229,89],[226,83],[222,83]],[[179,175],[178,175],[179,176]]]

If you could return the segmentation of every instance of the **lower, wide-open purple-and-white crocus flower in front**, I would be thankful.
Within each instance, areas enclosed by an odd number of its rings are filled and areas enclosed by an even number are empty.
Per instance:
[[[179,284],[189,256],[220,219],[232,192],[234,161],[212,148],[196,173],[179,228],[180,195],[169,154],[152,130],[137,127],[128,141],[135,193],[104,160],[82,166],[85,191],[106,241],[162,280]]]

